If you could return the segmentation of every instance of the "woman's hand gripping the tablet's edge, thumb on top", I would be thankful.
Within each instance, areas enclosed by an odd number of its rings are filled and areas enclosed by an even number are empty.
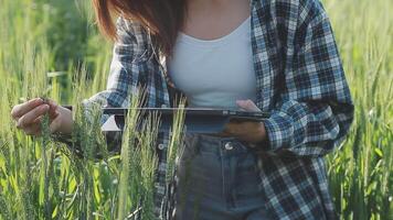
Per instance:
[[[261,111],[261,109],[249,99],[236,100],[236,103],[245,111]],[[248,143],[257,143],[266,139],[266,130],[264,123],[254,121],[231,121],[225,124],[224,131],[219,134],[222,136],[235,136]]]

